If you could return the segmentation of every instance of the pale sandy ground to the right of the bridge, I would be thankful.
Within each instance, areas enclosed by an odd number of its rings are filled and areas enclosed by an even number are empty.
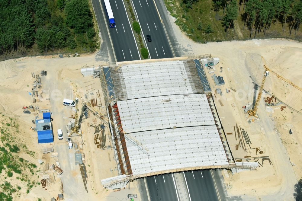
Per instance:
[[[170,16],[173,23],[173,18]],[[253,101],[252,79],[261,84],[263,77],[263,62],[265,58],[268,67],[279,75],[289,78],[294,84],[302,87],[300,63],[302,62],[302,44],[288,40],[248,40],[230,41],[222,43],[197,44],[184,36],[179,28],[173,24],[173,30],[178,43],[182,44],[184,56],[212,54],[220,58],[216,66],[216,75],[222,75],[226,82],[223,86],[215,86],[208,74],[211,87],[221,88],[223,96],[216,95],[215,104],[226,132],[234,132],[233,126],[242,126],[251,138],[251,148],[260,147],[264,154],[256,155],[255,149],[243,152],[235,149],[234,135],[227,135],[228,142],[234,158],[244,156],[269,155],[273,165],[268,161],[255,172],[241,172],[229,177],[225,174],[225,181],[229,189],[228,196],[242,195],[244,200],[294,200],[294,184],[302,177],[301,143],[300,135],[301,98],[302,91],[285,83],[272,73],[266,78],[264,90],[275,95],[284,104],[276,107],[265,107],[262,94],[258,115],[260,120],[247,123],[242,106]],[[220,67],[223,72],[220,73]],[[251,79],[251,78],[252,79]],[[226,93],[226,88],[235,88]],[[224,106],[221,106],[218,100]],[[278,101],[277,101],[278,102]],[[233,106],[231,105],[233,104]],[[281,111],[281,106],[287,106]],[[291,108],[292,109],[291,109]],[[289,135],[289,129],[294,132]],[[262,161],[259,161],[262,163]]]

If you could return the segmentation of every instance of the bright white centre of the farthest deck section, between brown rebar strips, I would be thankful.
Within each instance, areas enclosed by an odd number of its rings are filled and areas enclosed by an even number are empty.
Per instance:
[[[128,99],[196,93],[183,61],[131,64],[120,67]]]

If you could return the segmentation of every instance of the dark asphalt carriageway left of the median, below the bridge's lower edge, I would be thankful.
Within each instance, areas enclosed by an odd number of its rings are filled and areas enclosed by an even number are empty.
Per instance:
[[[179,197],[175,189],[172,174],[147,177],[151,201],[177,201]]]

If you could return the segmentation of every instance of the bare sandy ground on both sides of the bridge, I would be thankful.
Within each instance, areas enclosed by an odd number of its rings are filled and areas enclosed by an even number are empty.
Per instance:
[[[177,34],[178,31],[175,30],[175,33]],[[270,69],[291,79],[292,82],[302,87],[302,82],[300,81],[302,76],[302,71],[300,70],[302,44],[287,40],[249,40],[196,44],[182,36],[180,32],[178,36],[178,42],[186,47],[184,56],[210,53],[214,57],[220,58],[215,74],[223,76],[226,84],[219,86],[223,91],[223,96],[216,95],[217,98],[214,98],[214,100],[226,132],[232,132],[233,125],[236,125],[235,123],[237,122],[249,132],[252,143],[255,146],[259,146],[265,155],[269,155],[273,163],[273,165],[269,165],[266,161],[263,167],[259,167],[257,171],[253,172],[246,171],[234,175],[224,174],[227,184],[227,196],[241,196],[241,198],[252,200],[258,198],[262,200],[293,200],[294,184],[302,176],[302,137],[300,135],[302,115],[295,111],[302,109],[300,101],[302,92],[287,85],[275,75],[270,74],[266,79],[264,89],[295,110],[287,107],[285,110],[280,111],[280,106],[283,105],[265,108],[262,98],[258,109],[260,120],[248,123],[242,106],[245,106],[247,101],[252,101],[254,86],[251,78],[258,85],[261,83],[263,75],[263,67],[260,62],[261,56],[265,58]],[[45,94],[50,97],[51,104],[45,105],[45,107],[51,107],[50,109],[56,115],[54,118],[54,133],[56,135],[56,129],[64,126],[69,121],[68,117],[72,114],[71,109],[65,111],[66,108],[64,108],[64,115],[61,115],[63,108],[61,99],[63,99],[64,93],[72,97],[70,83],[76,83],[79,88],[86,90],[87,82],[93,78],[82,77],[80,68],[86,64],[93,63],[99,63],[99,58],[97,61],[95,54],[77,58],[59,58],[59,56],[25,57],[0,62],[0,110],[14,114],[20,121],[25,122],[25,129],[27,127],[30,128],[32,126],[31,120],[34,116],[30,114],[31,117],[29,118],[28,114],[23,113],[22,107],[32,104],[32,98],[28,95],[33,82],[31,72],[39,73],[41,70],[46,70],[47,76],[45,79],[47,80],[42,84],[43,89],[50,89],[45,91]],[[223,72],[221,73],[219,72],[220,67],[223,67]],[[206,73],[212,89],[218,88],[211,80],[210,76],[213,74]],[[95,90],[101,92],[99,80],[94,79],[93,83]],[[231,91],[226,94],[225,88],[230,87],[235,88],[237,91]],[[64,92],[66,90],[67,92]],[[266,97],[267,95],[264,93],[263,96]],[[220,105],[219,100],[223,102],[224,106]],[[59,119],[62,119],[60,123],[56,121]],[[84,124],[87,123],[85,122]],[[289,128],[293,130],[293,135],[289,135]],[[88,127],[86,129],[88,132]],[[89,134],[89,137],[85,140],[94,145],[91,141],[93,140],[92,134]],[[33,139],[36,139],[36,133],[33,132],[31,135]],[[227,136],[227,139],[235,158],[248,154],[242,150],[235,150],[233,135]],[[54,143],[59,151],[63,150],[63,148],[59,147],[61,142],[58,142],[56,136]],[[40,146],[37,143],[36,145],[37,147]],[[63,144],[63,146],[67,145]],[[129,192],[139,193],[138,187],[134,183],[134,185],[131,185],[130,191],[128,191],[128,188],[124,192],[107,192],[104,190],[100,181],[114,174],[114,172],[109,171],[109,164],[111,164],[113,158],[111,155],[111,162],[109,162],[107,152],[96,153],[93,150],[94,148],[89,148],[89,146],[84,148],[85,158],[88,160],[88,164],[91,165],[90,167],[86,165],[87,171],[90,171],[89,174],[93,175],[87,185],[89,193],[85,192],[82,181],[77,179],[79,171],[71,170],[69,173],[63,169],[62,177],[68,177],[67,174],[70,174],[70,177],[76,178],[75,180],[70,180],[70,182],[77,182],[75,187],[65,188],[66,198],[72,200],[87,198],[88,200],[114,200],[117,198],[116,200],[118,200],[127,197]],[[71,152],[69,153],[68,151],[65,150],[64,153],[66,152],[65,154],[70,156]],[[251,151],[250,154],[255,155],[255,151]],[[59,158],[63,166],[68,164],[68,161],[64,162],[64,160],[67,159]],[[55,193],[46,192],[44,189],[37,187],[28,195],[22,195],[20,200],[31,200],[33,197],[43,197],[43,199],[48,200],[54,196],[53,194]]]

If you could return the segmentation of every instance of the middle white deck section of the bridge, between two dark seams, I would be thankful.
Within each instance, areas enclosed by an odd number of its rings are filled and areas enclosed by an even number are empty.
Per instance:
[[[205,94],[170,95],[117,101],[127,133],[215,125]]]

